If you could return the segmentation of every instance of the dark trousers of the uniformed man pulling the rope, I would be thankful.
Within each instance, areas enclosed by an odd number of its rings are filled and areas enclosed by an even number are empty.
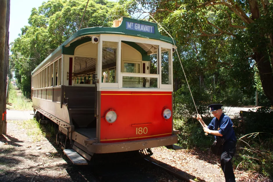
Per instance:
[[[224,172],[226,182],[235,182],[235,176],[232,166],[232,158],[236,151],[236,143],[233,141],[226,141],[223,146],[221,154],[221,168]]]

